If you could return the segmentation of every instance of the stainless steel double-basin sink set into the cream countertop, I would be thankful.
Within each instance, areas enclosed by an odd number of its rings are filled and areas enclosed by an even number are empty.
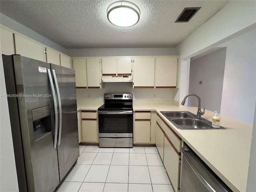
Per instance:
[[[212,122],[200,118],[189,111],[160,111],[168,120],[170,120],[178,129],[184,130],[204,130],[204,129],[226,129],[212,127]]]

